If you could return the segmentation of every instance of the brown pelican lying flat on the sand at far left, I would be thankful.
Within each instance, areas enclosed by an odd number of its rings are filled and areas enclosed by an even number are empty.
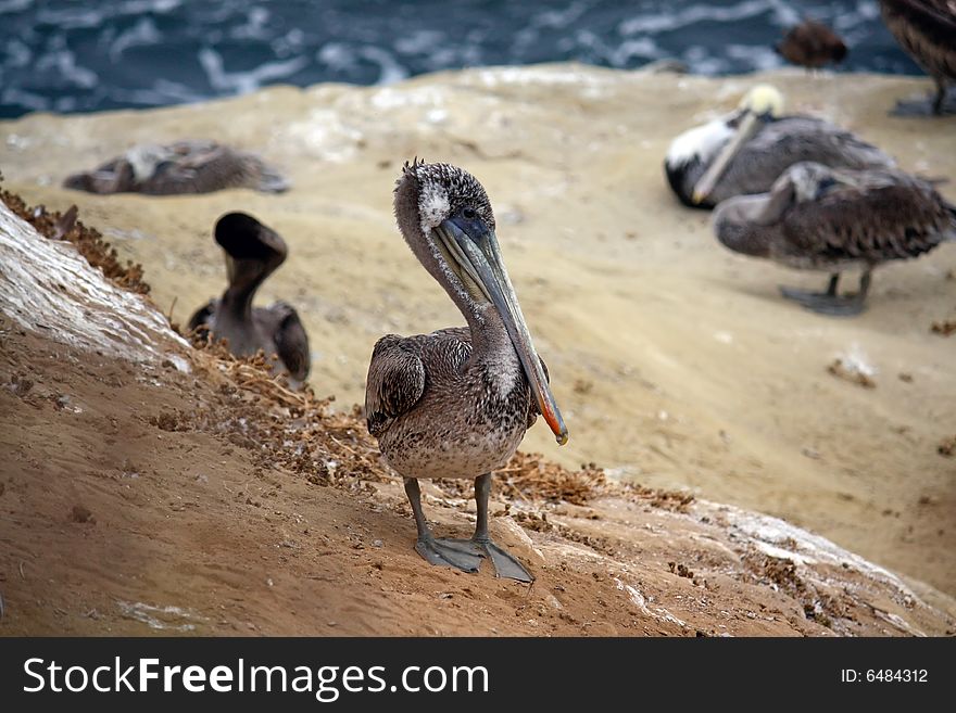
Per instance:
[[[137,145],[91,171],[68,176],[65,188],[89,193],[211,193],[225,188],[252,188],[279,193],[285,178],[257,156],[214,141],[179,141]]]

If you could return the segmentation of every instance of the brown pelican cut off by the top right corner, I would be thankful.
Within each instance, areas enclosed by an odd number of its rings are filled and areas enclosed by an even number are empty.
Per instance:
[[[880,0],[883,22],[896,41],[936,82],[934,114],[943,113],[946,86],[956,84],[956,2]],[[926,103],[901,102],[897,113],[926,113]]]

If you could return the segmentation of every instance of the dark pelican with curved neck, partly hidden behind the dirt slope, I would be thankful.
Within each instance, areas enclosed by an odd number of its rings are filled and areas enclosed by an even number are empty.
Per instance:
[[[229,287],[218,300],[200,307],[189,329],[226,339],[237,356],[262,349],[277,354],[281,367],[298,386],[309,375],[309,338],[295,309],[285,302],[253,307],[259,285],[281,265],[288,249],[274,230],[244,213],[227,213],[216,221],[216,242],[226,254]]]

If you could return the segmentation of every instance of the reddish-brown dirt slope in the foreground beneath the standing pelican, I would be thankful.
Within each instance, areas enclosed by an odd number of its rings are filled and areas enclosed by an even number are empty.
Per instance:
[[[534,456],[498,475],[492,507],[493,535],[534,584],[429,566],[401,484],[355,415],[163,328],[73,334],[45,326],[55,314],[18,308],[26,289],[52,310],[112,301],[114,323],[162,319],[45,240],[0,206],[0,280],[18,295],[0,305],[0,634],[956,628],[951,598],[782,521]],[[83,287],[14,281],[15,255],[27,272],[70,265]],[[440,532],[473,527],[460,487],[426,488]]]

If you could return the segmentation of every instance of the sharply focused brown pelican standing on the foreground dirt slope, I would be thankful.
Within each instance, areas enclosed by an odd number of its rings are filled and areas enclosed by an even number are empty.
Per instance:
[[[381,338],[365,392],[368,431],[405,479],[431,564],[476,572],[488,556],[499,576],[531,582],[488,535],[491,471],[515,453],[538,413],[567,429],[501,259],[491,203],[470,174],[448,164],[405,164],[395,218],[412,252],[462,311],[467,328]],[[438,539],[422,511],[419,478],[474,478],[478,522],[470,539]]]

